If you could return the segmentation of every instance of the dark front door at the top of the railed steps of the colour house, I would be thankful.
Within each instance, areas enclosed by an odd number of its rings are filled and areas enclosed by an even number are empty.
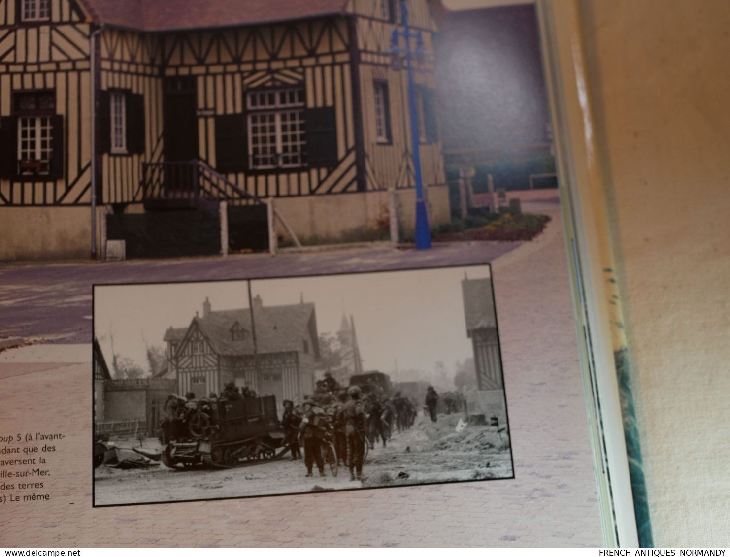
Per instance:
[[[196,78],[166,77],[164,88],[165,190],[174,196],[194,191],[188,163],[198,158]]]

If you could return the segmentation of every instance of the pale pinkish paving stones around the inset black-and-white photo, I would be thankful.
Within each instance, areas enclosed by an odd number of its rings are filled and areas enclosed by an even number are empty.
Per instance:
[[[34,364],[12,374],[7,370],[30,364],[6,358],[0,359],[0,434],[39,431],[66,437],[53,442],[57,450],[47,456],[51,476],[38,490],[49,493],[50,501],[0,505],[3,545],[602,545],[564,240],[557,207],[543,209],[553,216],[548,231],[498,254],[502,257],[495,256],[493,263],[515,479],[94,509],[91,366],[80,359],[50,368]],[[459,261],[465,262],[476,261]],[[174,265],[160,264],[150,280]],[[23,268],[28,267],[3,273]],[[177,278],[199,279],[201,272],[187,269]],[[69,329],[77,326],[78,316],[74,319]]]

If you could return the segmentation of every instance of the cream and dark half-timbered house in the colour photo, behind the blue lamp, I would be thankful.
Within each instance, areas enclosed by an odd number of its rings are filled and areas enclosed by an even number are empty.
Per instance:
[[[434,12],[415,104],[431,223],[449,218]],[[276,199],[296,234],[415,218],[401,0],[0,0],[0,259],[99,253],[100,215]],[[415,47],[415,41],[412,45]]]

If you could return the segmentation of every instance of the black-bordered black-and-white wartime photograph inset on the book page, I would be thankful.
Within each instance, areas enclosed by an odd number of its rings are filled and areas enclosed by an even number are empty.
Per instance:
[[[488,265],[94,288],[94,504],[513,477]]]

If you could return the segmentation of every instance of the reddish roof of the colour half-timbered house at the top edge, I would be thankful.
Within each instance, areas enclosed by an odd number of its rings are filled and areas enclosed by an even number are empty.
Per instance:
[[[335,15],[346,0],[80,0],[96,23],[139,29],[242,26]]]

